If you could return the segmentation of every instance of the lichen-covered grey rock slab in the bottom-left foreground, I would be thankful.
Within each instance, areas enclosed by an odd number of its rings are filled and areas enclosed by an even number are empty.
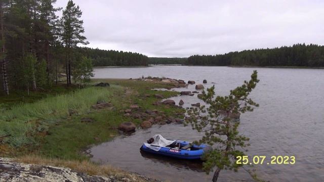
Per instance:
[[[0,158],[0,181],[157,181],[138,174],[89,175],[67,167],[25,164],[13,159]]]

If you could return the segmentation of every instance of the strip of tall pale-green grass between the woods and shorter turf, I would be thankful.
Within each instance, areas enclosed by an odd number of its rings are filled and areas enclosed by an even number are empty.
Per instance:
[[[68,115],[68,109],[79,114],[89,111],[98,100],[108,100],[110,89],[89,87],[74,93],[49,97],[34,103],[18,104],[0,116],[0,135],[11,134],[5,142],[15,147],[34,143],[35,132],[43,132]]]

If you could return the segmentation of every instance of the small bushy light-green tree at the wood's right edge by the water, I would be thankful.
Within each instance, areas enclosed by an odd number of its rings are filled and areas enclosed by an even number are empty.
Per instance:
[[[94,76],[92,68],[92,60],[87,57],[83,57],[81,61],[77,62],[73,70],[73,80],[79,83],[79,85],[90,82],[90,78]]]

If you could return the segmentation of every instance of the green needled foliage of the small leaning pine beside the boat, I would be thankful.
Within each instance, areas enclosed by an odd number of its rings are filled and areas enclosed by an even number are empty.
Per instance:
[[[244,153],[236,147],[246,147],[249,139],[239,134],[237,128],[239,122],[232,121],[230,116],[237,113],[253,111],[259,105],[248,96],[255,88],[257,82],[257,71],[251,75],[250,81],[230,90],[228,96],[214,97],[215,86],[203,91],[201,99],[209,106],[201,106],[199,109],[189,109],[189,119],[186,124],[191,124],[192,129],[205,132],[205,136],[196,143],[206,143],[214,146],[212,152],[205,155],[204,169],[210,172],[214,166],[218,169],[237,170],[240,165],[236,164],[236,156]]]

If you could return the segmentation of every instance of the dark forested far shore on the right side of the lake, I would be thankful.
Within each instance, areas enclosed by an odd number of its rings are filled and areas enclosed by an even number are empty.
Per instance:
[[[294,44],[292,47],[230,52],[223,55],[194,55],[188,65],[214,66],[305,66],[324,67],[324,46]]]

